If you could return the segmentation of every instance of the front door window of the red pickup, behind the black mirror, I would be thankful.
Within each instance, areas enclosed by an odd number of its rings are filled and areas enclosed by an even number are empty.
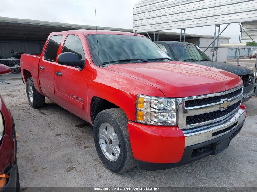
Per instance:
[[[85,60],[85,54],[82,48],[82,43],[78,36],[68,35],[65,40],[62,52],[76,53],[80,60]]]

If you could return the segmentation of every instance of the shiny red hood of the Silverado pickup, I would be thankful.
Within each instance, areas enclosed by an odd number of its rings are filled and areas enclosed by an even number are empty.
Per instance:
[[[107,69],[149,83],[166,97],[217,93],[242,85],[241,78],[230,72],[188,62],[115,64]]]

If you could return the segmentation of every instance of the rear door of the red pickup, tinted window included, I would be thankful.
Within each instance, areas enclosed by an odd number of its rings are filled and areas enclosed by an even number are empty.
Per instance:
[[[44,95],[54,99],[54,78],[56,56],[60,49],[62,35],[50,37],[39,62],[39,82]]]

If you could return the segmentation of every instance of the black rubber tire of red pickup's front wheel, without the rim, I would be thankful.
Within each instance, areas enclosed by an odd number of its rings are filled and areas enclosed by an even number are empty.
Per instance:
[[[116,161],[108,160],[99,143],[98,131],[102,123],[109,123],[113,126],[120,143],[120,154]],[[120,108],[112,108],[101,111],[94,121],[93,136],[96,151],[101,159],[102,163],[111,171],[116,173],[122,173],[130,170],[137,165],[137,161],[134,159],[130,138],[127,128],[128,118],[124,111]]]

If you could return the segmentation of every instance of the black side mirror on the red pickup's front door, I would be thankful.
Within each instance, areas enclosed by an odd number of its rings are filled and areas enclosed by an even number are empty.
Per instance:
[[[85,66],[85,60],[79,60],[76,53],[61,53],[57,57],[57,62],[61,65],[76,66],[82,70]]]

